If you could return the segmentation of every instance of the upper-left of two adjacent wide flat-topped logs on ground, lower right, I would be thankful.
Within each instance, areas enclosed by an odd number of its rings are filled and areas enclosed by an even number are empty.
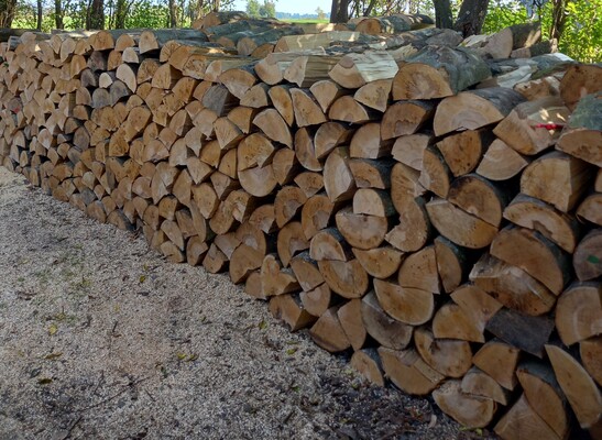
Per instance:
[[[404,393],[424,396],[444,380],[414,349],[398,351],[381,346],[379,355],[386,376]]]

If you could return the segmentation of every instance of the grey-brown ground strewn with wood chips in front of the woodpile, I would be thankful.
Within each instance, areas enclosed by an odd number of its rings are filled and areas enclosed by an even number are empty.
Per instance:
[[[223,275],[0,167],[0,439],[467,439]]]

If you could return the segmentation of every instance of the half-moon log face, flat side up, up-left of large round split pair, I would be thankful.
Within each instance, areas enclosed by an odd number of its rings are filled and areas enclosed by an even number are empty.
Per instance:
[[[448,200],[435,198],[426,204],[426,210],[437,231],[460,246],[485,248],[497,234],[496,227],[471,216]]]

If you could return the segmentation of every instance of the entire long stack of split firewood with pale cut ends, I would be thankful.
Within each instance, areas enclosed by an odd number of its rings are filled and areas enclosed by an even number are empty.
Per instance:
[[[602,67],[399,23],[11,36],[0,163],[464,426],[602,438]]]

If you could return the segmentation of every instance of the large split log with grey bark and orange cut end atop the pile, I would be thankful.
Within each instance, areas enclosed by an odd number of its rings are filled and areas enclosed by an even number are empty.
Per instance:
[[[488,65],[470,50],[427,46],[399,68],[393,79],[393,99],[450,97],[490,75]]]

